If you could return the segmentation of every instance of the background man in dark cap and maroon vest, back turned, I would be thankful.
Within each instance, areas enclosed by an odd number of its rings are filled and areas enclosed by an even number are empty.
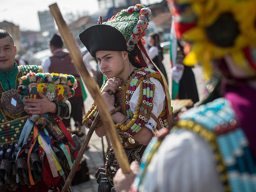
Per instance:
[[[72,117],[74,119],[77,130],[80,130],[80,126],[82,123],[82,114],[84,110],[82,87],[79,79],[80,75],[76,70],[74,63],[72,63],[70,54],[62,50],[63,41],[58,34],[54,34],[49,44],[52,56],[46,58],[42,62],[43,70],[44,72],[49,73],[55,72],[62,74],[71,74],[76,77],[78,84],[76,88],[76,93],[74,97],[69,99],[69,102],[72,106],[70,118]],[[63,120],[63,123],[67,128],[70,128],[70,118]]]

